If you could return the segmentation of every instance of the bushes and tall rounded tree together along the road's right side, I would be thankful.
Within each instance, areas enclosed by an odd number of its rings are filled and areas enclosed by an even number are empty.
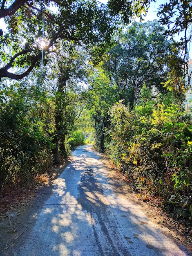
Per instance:
[[[176,218],[191,220],[188,83],[183,59],[164,33],[153,21],[134,22],[118,34],[116,45],[90,82],[92,92],[100,86],[101,95],[97,93],[88,105],[95,122],[96,148],[125,174],[138,197],[143,201],[161,198],[162,207]]]

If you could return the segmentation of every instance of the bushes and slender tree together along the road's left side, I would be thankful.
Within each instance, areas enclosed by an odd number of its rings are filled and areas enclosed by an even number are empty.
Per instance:
[[[72,43],[57,45],[50,67],[20,83],[2,84],[0,99],[0,186],[31,180],[67,157],[66,137],[86,97],[85,56]],[[84,136],[75,137],[82,144]]]

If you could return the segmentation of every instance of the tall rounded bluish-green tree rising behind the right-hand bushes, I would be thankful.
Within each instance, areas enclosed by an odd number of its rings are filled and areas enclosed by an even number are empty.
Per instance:
[[[164,28],[159,23],[134,22],[117,36],[118,43],[109,50],[105,68],[116,86],[120,99],[133,103],[138,101],[143,84],[154,91],[162,92],[168,68],[165,62],[171,45],[163,36]],[[127,94],[127,96],[126,96]]]

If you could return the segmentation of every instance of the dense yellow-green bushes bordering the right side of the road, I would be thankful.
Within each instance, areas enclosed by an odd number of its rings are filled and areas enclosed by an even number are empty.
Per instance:
[[[111,111],[106,153],[143,200],[160,197],[176,217],[192,219],[192,117],[164,100],[145,98]]]

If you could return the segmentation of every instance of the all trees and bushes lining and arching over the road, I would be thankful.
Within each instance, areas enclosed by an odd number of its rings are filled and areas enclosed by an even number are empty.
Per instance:
[[[15,2],[0,1],[1,191],[93,144],[138,198],[190,226],[191,1],[147,22],[133,19],[150,0]]]

